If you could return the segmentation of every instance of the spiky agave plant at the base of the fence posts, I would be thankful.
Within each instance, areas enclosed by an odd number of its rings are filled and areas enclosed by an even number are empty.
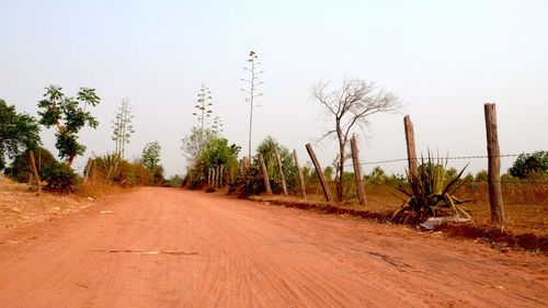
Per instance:
[[[414,216],[418,220],[429,217],[460,216],[471,218],[459,205],[468,201],[457,198],[454,193],[461,185],[459,181],[468,164],[449,181],[446,179],[448,158],[436,158],[435,161],[429,151],[427,161],[421,157],[421,166],[416,175],[407,171],[408,185],[400,184],[398,190],[408,196],[406,203],[392,215],[392,220],[407,223]],[[435,163],[434,163],[435,162]]]

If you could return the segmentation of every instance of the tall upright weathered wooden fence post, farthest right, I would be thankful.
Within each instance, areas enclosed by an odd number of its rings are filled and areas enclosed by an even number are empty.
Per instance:
[[[495,104],[484,104],[487,153],[489,160],[488,185],[489,202],[491,204],[491,221],[502,226],[504,224],[504,205],[501,190],[501,148],[496,133]]]

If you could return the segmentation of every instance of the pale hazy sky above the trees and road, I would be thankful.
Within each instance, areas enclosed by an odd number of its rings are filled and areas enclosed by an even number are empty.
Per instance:
[[[136,128],[127,157],[158,140],[171,175],[184,172],[181,139],[197,124],[192,113],[202,83],[225,136],[247,152],[249,114],[239,89],[252,49],[265,71],[254,144],[272,135],[304,161],[305,144],[330,127],[311,85],[351,77],[376,81],[406,104],[401,115],[372,118],[362,160],[406,157],[404,114],[414,122],[419,152],[486,155],[484,102],[496,103],[503,153],[548,150],[547,14],[548,1],[517,0],[0,0],[0,98],[35,115],[49,84],[70,95],[95,88],[101,124],[81,136],[89,157],[114,149],[111,122],[127,96]],[[53,132],[43,139],[57,152]],[[330,164],[334,144],[316,148]],[[503,160],[503,171],[512,160]],[[404,163],[381,167],[404,172]],[[473,160],[470,170],[486,167]]]

